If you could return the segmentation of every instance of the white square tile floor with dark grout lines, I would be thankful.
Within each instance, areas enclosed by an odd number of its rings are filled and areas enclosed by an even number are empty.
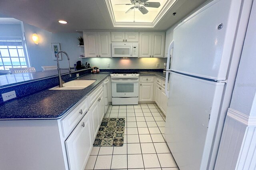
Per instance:
[[[105,117],[126,118],[124,146],[93,147],[85,170],[178,170],[156,104],[110,105]]]

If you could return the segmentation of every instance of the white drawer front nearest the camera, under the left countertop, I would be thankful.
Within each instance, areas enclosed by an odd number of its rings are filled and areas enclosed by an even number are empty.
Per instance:
[[[76,127],[77,123],[82,119],[88,109],[88,97],[86,97],[80,104],[70,110],[68,115],[66,115],[66,117],[60,121],[64,138],[72,132],[72,130]]]

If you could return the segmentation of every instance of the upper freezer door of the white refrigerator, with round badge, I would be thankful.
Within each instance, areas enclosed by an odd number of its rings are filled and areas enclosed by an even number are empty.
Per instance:
[[[240,10],[232,1],[215,0],[174,29],[171,70],[226,80]]]

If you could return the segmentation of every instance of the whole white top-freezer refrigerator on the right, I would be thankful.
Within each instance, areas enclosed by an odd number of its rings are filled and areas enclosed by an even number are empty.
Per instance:
[[[214,161],[213,141],[240,10],[236,2],[214,0],[174,29],[167,60],[165,137],[180,170],[209,170]]]

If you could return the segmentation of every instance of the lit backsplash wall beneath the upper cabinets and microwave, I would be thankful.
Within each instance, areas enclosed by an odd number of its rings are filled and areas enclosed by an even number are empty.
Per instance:
[[[167,62],[167,58],[88,58],[82,59],[82,63],[88,62],[91,66],[98,66],[99,68],[112,69],[128,69],[128,68],[164,68],[164,63]],[[110,67],[107,67],[107,63],[110,63]],[[159,63],[159,67],[156,64]]]

